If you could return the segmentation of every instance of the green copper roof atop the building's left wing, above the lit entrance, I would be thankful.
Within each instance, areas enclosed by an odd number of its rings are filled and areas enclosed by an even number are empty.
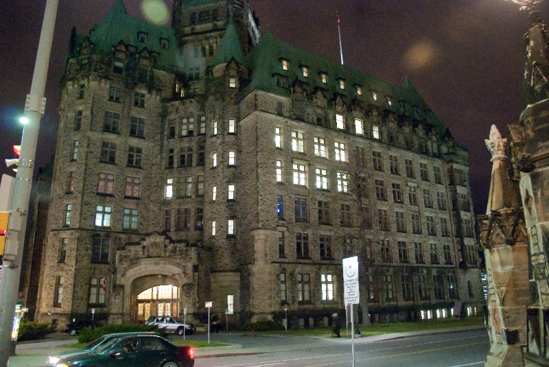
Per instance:
[[[145,40],[139,40],[139,34],[146,34]],[[178,45],[174,29],[163,27],[128,15],[124,1],[116,0],[104,19],[90,31],[89,38],[93,51],[98,54],[112,54],[113,46],[123,41],[136,47],[136,52],[146,48],[158,54],[156,67],[170,71],[172,66],[180,67]],[[161,39],[167,40],[167,49],[162,49]]]

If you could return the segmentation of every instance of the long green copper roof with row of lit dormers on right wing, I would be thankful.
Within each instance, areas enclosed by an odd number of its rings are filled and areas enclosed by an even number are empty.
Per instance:
[[[282,69],[282,61],[288,60],[288,71]],[[404,86],[397,86],[381,80],[373,75],[363,73],[351,67],[344,66],[327,58],[299,49],[283,43],[268,31],[262,35],[259,45],[255,46],[246,56],[246,62],[250,67],[251,81],[243,93],[253,89],[289,95],[289,88],[277,86],[275,75],[283,75],[288,78],[288,85],[296,80],[308,84],[309,88],[322,88],[327,91],[328,99],[334,99],[334,93],[347,95],[351,98],[362,100],[366,104],[378,106],[382,110],[392,110],[399,115],[406,115],[410,119],[423,121],[426,126],[432,126],[441,136],[445,136],[446,128],[434,114],[429,119],[425,116],[425,110],[431,110],[417,93],[412,83],[406,79]],[[302,67],[307,67],[308,77],[303,76]],[[320,73],[326,73],[327,83],[320,79]],[[345,89],[340,88],[340,80],[344,80]],[[362,88],[362,95],[358,95],[356,87]],[[375,101],[371,91],[375,91],[380,98]],[[389,106],[384,96],[390,96],[393,105]],[[405,102],[406,109],[401,108],[401,101]],[[412,106],[417,106],[419,114],[414,112]]]

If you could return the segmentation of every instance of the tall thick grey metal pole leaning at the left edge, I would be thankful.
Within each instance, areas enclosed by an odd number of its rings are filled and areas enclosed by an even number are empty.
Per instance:
[[[40,118],[44,113],[47,69],[51,43],[54,39],[54,28],[58,0],[47,0],[44,12],[38,52],[34,64],[34,74],[30,94],[25,103],[25,117],[28,124],[23,129],[21,155],[14,184],[14,194],[10,209],[10,222],[5,241],[5,254],[0,280],[0,366],[7,366],[10,358],[10,342],[14,320],[15,304],[19,291],[21,260],[29,210],[36,142],[40,129]]]

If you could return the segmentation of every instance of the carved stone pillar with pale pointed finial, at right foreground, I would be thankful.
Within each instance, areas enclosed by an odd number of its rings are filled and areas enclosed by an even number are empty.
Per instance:
[[[486,366],[524,366],[528,289],[528,242],[517,182],[507,177],[506,139],[492,126],[486,140],[492,175],[486,215],[479,215],[486,257],[490,351]]]

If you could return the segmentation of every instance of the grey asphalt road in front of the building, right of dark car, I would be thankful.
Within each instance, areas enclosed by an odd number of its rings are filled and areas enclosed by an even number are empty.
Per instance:
[[[215,341],[230,339],[230,335],[212,335]],[[242,338],[242,337],[241,337]],[[272,352],[198,358],[196,367],[320,367],[352,366],[351,341],[336,338],[318,338],[300,343],[293,338],[256,338],[259,344],[268,344]],[[226,340],[229,341],[229,340]],[[294,348],[282,351],[283,344]],[[279,348],[280,347],[280,348]],[[421,366],[465,367],[483,366],[489,350],[486,331],[421,335],[411,338],[366,342],[355,340],[355,366]],[[251,351],[250,351],[251,352]],[[241,351],[242,353],[242,351]]]

